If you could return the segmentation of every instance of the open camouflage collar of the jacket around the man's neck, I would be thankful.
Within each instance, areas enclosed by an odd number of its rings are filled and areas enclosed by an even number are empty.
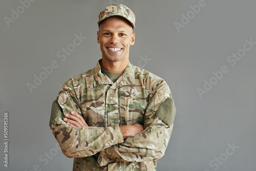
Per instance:
[[[113,83],[110,78],[101,73],[100,62],[102,59],[99,59],[97,65],[95,67],[95,74],[94,74],[94,87],[98,87],[102,84],[112,84],[111,88],[119,88],[122,86],[132,85],[135,84],[135,72],[134,66],[132,63],[128,63],[126,66],[123,75],[120,76],[115,83]]]

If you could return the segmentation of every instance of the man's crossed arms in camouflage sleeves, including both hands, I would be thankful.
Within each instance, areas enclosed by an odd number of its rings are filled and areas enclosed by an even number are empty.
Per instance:
[[[74,97],[72,88],[67,91]],[[159,98],[163,99],[162,102],[154,103]],[[161,92],[156,92],[148,103],[143,126],[88,126],[77,112],[66,110],[69,113],[62,113],[56,100],[54,105],[50,127],[63,154],[67,157],[87,157],[100,153],[98,162],[101,166],[109,161],[142,162],[161,158],[172,133],[176,114],[172,97],[166,98]]]

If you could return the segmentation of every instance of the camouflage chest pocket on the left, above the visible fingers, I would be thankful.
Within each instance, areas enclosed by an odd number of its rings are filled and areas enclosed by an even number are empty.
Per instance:
[[[104,88],[87,88],[81,97],[81,112],[89,126],[104,126],[105,95]]]

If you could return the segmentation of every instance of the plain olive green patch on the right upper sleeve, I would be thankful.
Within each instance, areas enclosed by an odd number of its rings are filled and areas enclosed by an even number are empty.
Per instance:
[[[176,108],[174,105],[174,100],[170,97],[164,100],[156,112],[156,116],[169,126],[173,124],[175,115]]]

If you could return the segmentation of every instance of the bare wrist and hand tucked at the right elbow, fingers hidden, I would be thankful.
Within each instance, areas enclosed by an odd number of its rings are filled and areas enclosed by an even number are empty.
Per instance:
[[[140,132],[144,130],[144,126],[141,124],[134,124],[134,125],[123,125],[120,126],[121,133],[123,135],[123,139],[128,137],[134,137]]]

